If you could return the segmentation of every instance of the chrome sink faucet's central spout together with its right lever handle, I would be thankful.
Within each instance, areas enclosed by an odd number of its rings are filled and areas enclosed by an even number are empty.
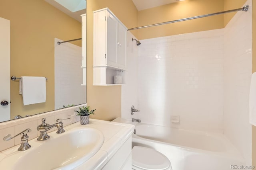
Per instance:
[[[70,119],[70,115],[68,116],[67,119]],[[52,125],[48,124],[48,123],[45,123],[46,121],[46,118],[42,118],[42,124],[39,125],[36,129],[38,131],[40,131],[40,136],[37,138],[38,141],[45,141],[47,139],[50,138],[50,136],[47,134],[47,131],[52,129],[53,127],[57,127],[58,130],[56,131],[56,133],[60,134],[60,133],[64,133],[64,129],[63,129],[63,122],[62,120],[65,120],[65,119],[57,119],[56,121],[58,123],[54,123]]]

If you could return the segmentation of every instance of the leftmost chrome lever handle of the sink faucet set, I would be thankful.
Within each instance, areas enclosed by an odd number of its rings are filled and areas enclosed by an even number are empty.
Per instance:
[[[28,144],[28,135],[27,135],[27,133],[29,133],[29,132],[31,132],[31,129],[26,129],[14,136],[14,137],[16,137],[18,135],[23,134],[21,137],[21,145],[18,148],[18,151],[30,149],[31,146]],[[13,139],[14,137],[12,137],[12,135],[8,134],[4,137],[4,141],[9,141],[9,140]]]

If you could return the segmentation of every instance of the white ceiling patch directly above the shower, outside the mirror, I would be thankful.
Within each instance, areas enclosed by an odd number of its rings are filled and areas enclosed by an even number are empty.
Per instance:
[[[174,3],[180,0],[132,0],[137,10],[146,10],[148,8],[154,8],[156,6],[162,6],[170,3]]]

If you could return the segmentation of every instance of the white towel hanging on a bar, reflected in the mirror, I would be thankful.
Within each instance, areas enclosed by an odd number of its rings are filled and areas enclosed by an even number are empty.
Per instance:
[[[46,78],[22,76],[19,91],[24,105],[44,103],[46,102]]]

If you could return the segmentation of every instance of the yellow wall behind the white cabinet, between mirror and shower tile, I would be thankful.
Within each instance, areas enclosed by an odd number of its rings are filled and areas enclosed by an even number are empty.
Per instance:
[[[112,120],[121,117],[121,86],[92,86],[93,84],[93,14],[108,7],[126,27],[137,27],[138,10],[132,0],[87,0],[87,104],[96,109],[90,117]],[[137,31],[133,31],[136,35]]]

